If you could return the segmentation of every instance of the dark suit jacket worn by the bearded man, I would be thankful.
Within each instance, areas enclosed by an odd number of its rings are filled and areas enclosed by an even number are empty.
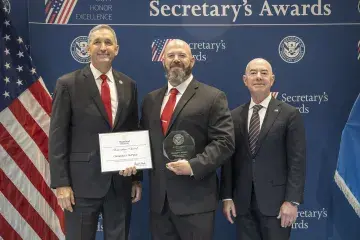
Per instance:
[[[180,98],[166,135],[185,130],[195,140],[196,156],[189,159],[193,176],[177,176],[165,166],[160,110],[167,85],[149,93],[142,104],[141,126],[150,132],[153,169],[150,176],[150,208],[160,213],[167,195],[178,215],[216,209],[216,169],[234,151],[234,129],[226,96],[220,90],[193,79]]]

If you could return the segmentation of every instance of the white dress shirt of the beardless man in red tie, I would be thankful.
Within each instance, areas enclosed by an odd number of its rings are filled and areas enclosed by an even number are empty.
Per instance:
[[[90,63],[90,69],[94,76],[95,83],[99,89],[99,93],[100,93],[100,97],[101,97],[102,79],[100,78],[100,76],[102,75],[102,73],[99,70],[97,70],[94,67],[94,65],[92,65],[92,63]],[[116,111],[117,111],[117,107],[118,107],[118,97],[117,97],[115,79],[114,79],[114,76],[112,73],[112,68],[110,68],[110,70],[105,75],[107,76],[107,82],[108,82],[109,88],[110,88],[111,115],[112,115],[112,124],[114,124]]]

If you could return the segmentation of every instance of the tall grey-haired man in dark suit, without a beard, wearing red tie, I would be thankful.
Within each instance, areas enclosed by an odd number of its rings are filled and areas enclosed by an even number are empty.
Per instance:
[[[106,239],[127,239],[131,198],[141,197],[134,167],[101,172],[99,133],[137,130],[137,88],[112,69],[119,46],[114,30],[89,33],[90,65],[60,77],[53,96],[49,157],[51,187],[65,209],[66,239],[95,239],[99,214]],[[132,176],[132,177],[129,177]]]

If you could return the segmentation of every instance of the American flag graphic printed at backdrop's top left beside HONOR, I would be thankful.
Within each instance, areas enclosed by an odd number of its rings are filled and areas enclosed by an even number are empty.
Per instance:
[[[67,24],[78,0],[45,0],[46,23]]]

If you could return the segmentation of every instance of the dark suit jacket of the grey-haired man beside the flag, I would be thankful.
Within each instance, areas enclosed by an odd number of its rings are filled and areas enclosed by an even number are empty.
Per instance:
[[[90,66],[60,77],[53,95],[49,134],[51,187],[71,186],[76,197],[103,197],[113,178],[117,189],[131,178],[101,173],[99,133],[137,130],[136,83],[113,70],[118,108],[113,128]]]

